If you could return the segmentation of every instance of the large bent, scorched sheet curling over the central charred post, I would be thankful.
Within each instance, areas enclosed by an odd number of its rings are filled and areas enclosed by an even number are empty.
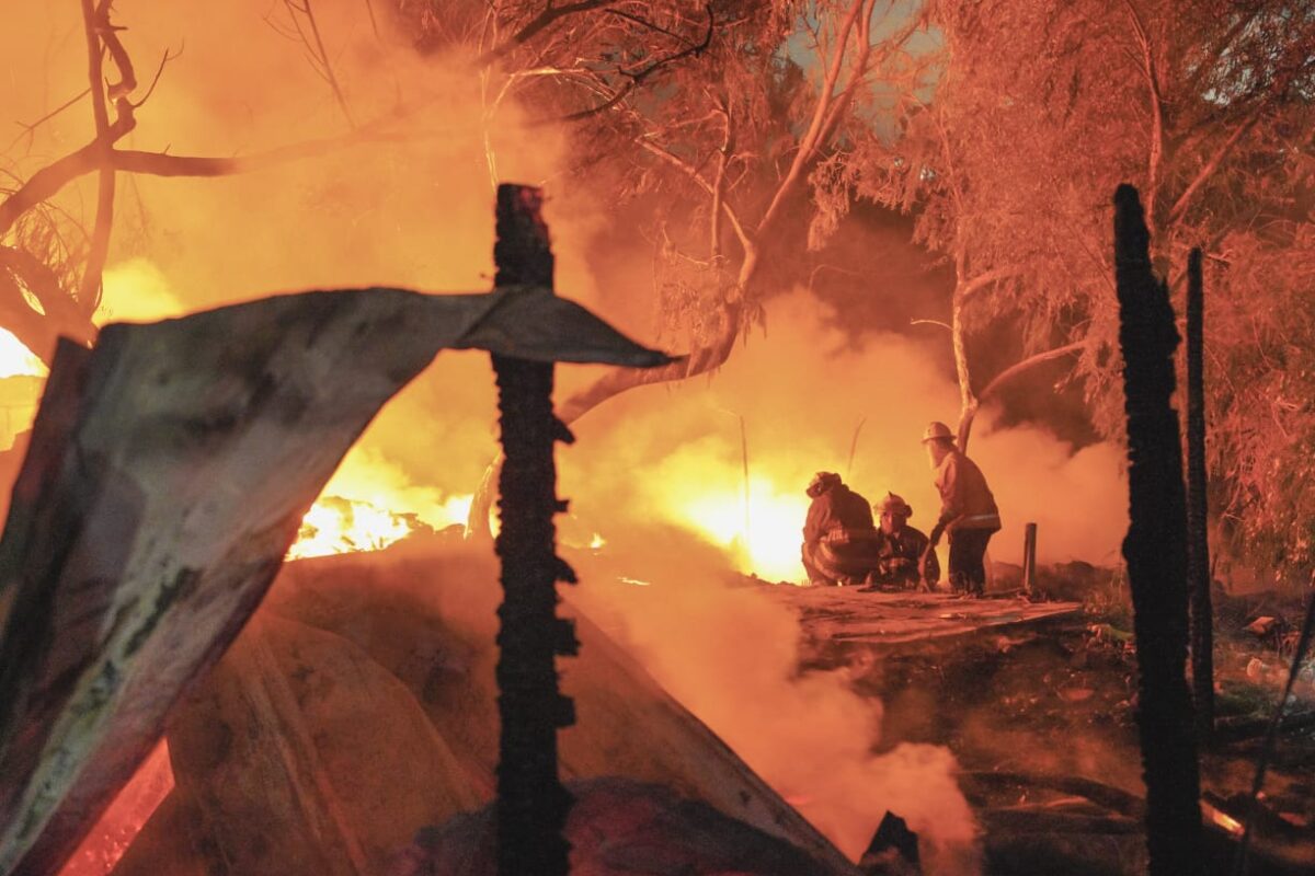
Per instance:
[[[62,349],[0,538],[0,873],[59,868],[438,349],[668,361],[575,305],[567,336],[554,296],[505,299],[313,292]]]

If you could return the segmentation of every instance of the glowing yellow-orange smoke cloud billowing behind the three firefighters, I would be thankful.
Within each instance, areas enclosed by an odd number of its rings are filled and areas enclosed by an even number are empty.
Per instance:
[[[743,571],[786,580],[802,577],[803,487],[814,471],[839,471],[873,502],[894,491],[913,506],[913,525],[930,529],[940,500],[920,437],[930,420],[957,416],[948,340],[869,334],[856,347],[835,327],[843,317],[805,292],[773,299],[765,331],[715,377],[644,387],[581,420],[581,449],[562,464],[577,514],[613,527],[621,515],[692,528]],[[1073,453],[1039,428],[997,429],[988,407],[969,454],[1005,521],[993,558],[1020,562],[1024,524],[1035,521],[1041,562],[1116,559],[1127,491],[1115,448]]]

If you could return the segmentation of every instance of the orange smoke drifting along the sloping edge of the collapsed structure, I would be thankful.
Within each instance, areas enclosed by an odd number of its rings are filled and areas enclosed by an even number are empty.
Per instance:
[[[874,754],[881,703],[844,670],[801,674],[798,619],[761,587],[726,586],[722,556],[659,528],[576,562],[571,602],[844,854],[857,860],[890,810],[919,834],[926,872],[976,872],[977,827],[949,750]]]

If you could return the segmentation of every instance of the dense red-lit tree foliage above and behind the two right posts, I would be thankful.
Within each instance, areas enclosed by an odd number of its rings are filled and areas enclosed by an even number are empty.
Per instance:
[[[932,3],[944,37],[930,100],[868,141],[856,190],[917,217],[953,267],[967,437],[977,401],[1066,359],[1098,429],[1122,440],[1111,194],[1143,193],[1157,269],[1182,313],[1186,256],[1207,260],[1215,508],[1226,535],[1310,567],[1315,12],[1273,0]],[[1007,323],[1024,359],[972,368]]]

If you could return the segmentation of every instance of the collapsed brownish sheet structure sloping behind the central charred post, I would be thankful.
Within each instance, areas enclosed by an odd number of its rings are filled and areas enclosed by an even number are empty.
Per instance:
[[[459,855],[472,856],[467,869],[435,872],[492,873],[489,814],[475,813],[494,797],[500,760],[496,575],[487,553],[441,538],[287,565],[252,623],[172,712],[174,789],[114,876],[392,873]],[[747,846],[790,850],[780,862],[806,862],[801,876],[856,872],[573,613],[581,650],[563,687],[579,720],[559,738],[563,779],[602,783],[586,787],[651,823],[642,829],[611,806],[572,809],[565,835],[577,867],[590,855],[656,854],[644,837],[671,839],[688,823],[686,864],[725,864],[729,850]],[[464,821],[448,826],[454,818]],[[751,869],[752,860],[739,859],[736,872],[789,872]]]

